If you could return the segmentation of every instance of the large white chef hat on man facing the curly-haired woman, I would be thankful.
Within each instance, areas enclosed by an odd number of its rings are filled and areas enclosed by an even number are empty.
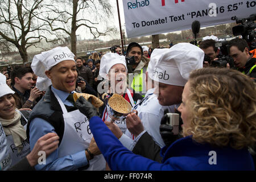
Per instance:
[[[153,79],[163,84],[184,86],[191,71],[203,68],[204,51],[192,44],[179,43],[161,54]]]

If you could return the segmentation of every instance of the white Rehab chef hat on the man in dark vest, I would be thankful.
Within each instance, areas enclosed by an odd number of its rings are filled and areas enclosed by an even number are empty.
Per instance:
[[[46,78],[46,71],[61,61],[75,61],[74,56],[75,55],[69,50],[68,47],[56,47],[49,51],[42,52],[39,55],[35,55],[31,63],[31,68],[33,69],[35,75]]]

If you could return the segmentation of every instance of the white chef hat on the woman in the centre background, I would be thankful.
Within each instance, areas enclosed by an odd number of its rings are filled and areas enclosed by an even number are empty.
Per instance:
[[[125,56],[120,56],[118,53],[112,52],[105,53],[105,55],[101,57],[100,76],[105,78],[115,64],[123,64],[127,71]]]

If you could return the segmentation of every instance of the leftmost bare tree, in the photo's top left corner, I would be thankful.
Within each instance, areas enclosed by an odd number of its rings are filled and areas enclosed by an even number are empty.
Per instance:
[[[28,60],[27,48],[46,39],[46,24],[36,15],[42,13],[43,0],[0,0],[0,39],[18,48],[23,63]],[[49,32],[51,33],[51,32]]]

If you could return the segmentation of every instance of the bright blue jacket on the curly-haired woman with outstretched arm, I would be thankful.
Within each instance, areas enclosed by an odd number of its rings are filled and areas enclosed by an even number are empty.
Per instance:
[[[185,137],[176,140],[168,148],[162,148],[163,161],[158,163],[135,155],[123,147],[100,117],[90,119],[90,130],[112,170],[255,170],[253,159],[247,149],[213,147],[209,144],[196,143],[191,137]],[[216,152],[217,164],[209,164],[209,160],[212,161],[210,151]]]

